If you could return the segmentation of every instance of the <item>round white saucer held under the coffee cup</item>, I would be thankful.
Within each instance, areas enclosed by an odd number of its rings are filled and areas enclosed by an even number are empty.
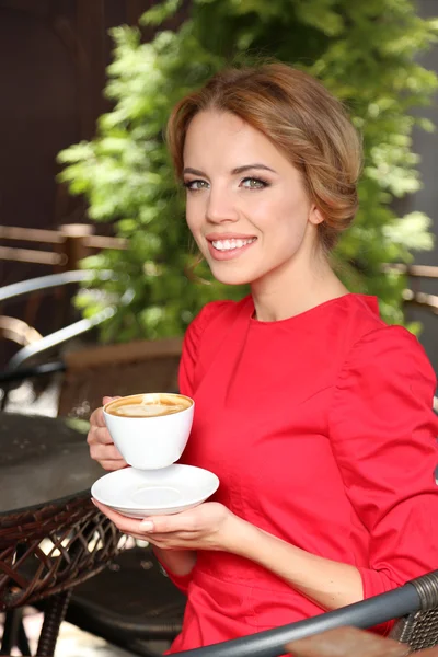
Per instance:
[[[101,476],[91,495],[129,518],[178,514],[205,502],[217,491],[212,472],[176,463],[160,470],[124,468]]]

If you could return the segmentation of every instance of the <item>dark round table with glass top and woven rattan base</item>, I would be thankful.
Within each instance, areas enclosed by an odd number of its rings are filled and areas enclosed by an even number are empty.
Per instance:
[[[85,437],[82,420],[0,413],[0,654],[14,642],[25,645],[21,610],[47,598],[37,655],[51,656],[71,587],[124,546],[91,503],[90,486],[103,470]]]

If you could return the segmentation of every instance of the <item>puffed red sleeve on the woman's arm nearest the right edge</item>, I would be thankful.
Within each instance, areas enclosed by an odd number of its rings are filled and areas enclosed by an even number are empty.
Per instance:
[[[339,374],[330,437],[347,496],[369,532],[364,597],[438,567],[436,378],[400,326],[357,343]]]

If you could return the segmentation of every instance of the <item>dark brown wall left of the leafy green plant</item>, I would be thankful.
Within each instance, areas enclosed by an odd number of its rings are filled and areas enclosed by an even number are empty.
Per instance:
[[[56,155],[90,139],[107,108],[108,28],[136,24],[152,3],[0,0],[1,224],[56,228],[84,220],[82,201],[56,183]],[[0,261],[0,285],[49,273],[44,265]]]

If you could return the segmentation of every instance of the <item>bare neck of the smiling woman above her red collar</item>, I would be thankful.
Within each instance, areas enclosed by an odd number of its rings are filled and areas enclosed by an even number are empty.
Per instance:
[[[278,322],[348,293],[321,250],[318,256],[297,254],[286,267],[251,286],[255,316],[261,322]]]

